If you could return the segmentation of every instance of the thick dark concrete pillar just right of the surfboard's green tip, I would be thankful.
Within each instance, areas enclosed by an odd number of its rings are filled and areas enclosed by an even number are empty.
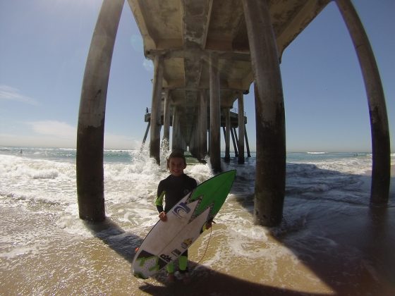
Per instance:
[[[262,226],[281,222],[286,174],[285,111],[267,0],[242,0],[255,77],[257,164],[254,220]]]

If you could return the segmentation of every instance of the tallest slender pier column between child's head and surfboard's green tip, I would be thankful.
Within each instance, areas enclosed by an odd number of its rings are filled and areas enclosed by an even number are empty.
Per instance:
[[[210,163],[214,172],[221,171],[221,109],[218,56],[209,56],[209,86],[210,86]]]

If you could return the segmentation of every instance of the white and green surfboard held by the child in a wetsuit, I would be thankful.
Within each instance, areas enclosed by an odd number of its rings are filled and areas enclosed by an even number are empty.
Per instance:
[[[212,220],[231,190],[236,170],[220,173],[198,185],[147,234],[133,259],[133,272],[149,278],[176,260],[199,238],[202,227]]]

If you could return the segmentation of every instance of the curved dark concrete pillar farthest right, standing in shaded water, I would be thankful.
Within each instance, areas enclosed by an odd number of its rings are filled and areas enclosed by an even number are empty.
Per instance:
[[[360,68],[365,82],[367,104],[370,114],[372,133],[372,187],[370,204],[385,205],[389,199],[391,178],[391,147],[389,144],[389,126],[382,82],[377,68],[375,55],[367,39],[358,13],[350,0],[336,0],[344,18],[348,32],[353,40]]]

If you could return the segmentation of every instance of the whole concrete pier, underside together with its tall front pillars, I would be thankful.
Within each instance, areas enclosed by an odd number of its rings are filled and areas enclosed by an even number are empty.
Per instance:
[[[351,0],[334,2],[344,18],[363,73],[372,134],[371,204],[383,206],[389,198],[390,145],[379,70]],[[159,163],[164,140],[171,142],[171,149],[189,147],[200,159],[209,153],[212,170],[221,171],[221,126],[225,128],[225,151],[229,152],[234,121],[231,109],[236,107],[238,161],[243,164],[243,94],[254,84],[254,219],[263,226],[277,226],[282,218],[286,176],[285,109],[279,63],[288,44],[328,3],[329,0],[128,0],[142,35],[144,54],[154,62],[150,156]],[[124,4],[124,0],[103,0],[85,68],[77,139],[78,202],[80,217],[85,220],[105,218],[104,114],[111,58]],[[233,106],[235,101],[237,106]]]

